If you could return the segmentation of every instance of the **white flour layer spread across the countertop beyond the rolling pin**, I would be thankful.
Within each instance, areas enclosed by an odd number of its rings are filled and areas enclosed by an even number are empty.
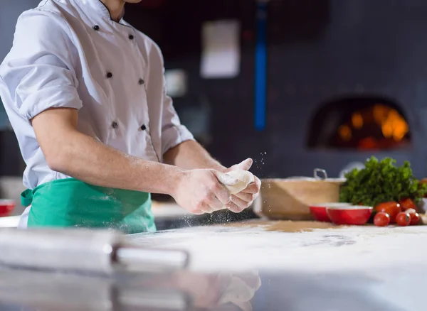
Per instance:
[[[186,249],[195,271],[348,271],[427,265],[427,226],[339,227],[302,232],[211,226],[136,234],[140,246]]]

